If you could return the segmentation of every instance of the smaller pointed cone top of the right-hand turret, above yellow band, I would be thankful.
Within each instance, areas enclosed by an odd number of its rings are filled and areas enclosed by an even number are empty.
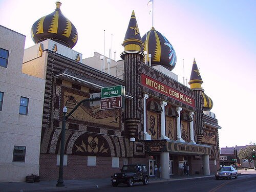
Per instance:
[[[196,60],[194,58],[193,66],[192,66],[192,71],[190,75],[190,80],[188,84],[190,84],[191,89],[201,89],[202,90],[202,78],[200,75],[200,72],[197,67]]]

